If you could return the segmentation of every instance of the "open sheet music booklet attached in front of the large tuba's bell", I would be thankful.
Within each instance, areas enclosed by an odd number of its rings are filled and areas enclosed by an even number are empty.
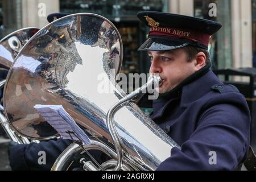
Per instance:
[[[65,111],[63,106],[35,105],[34,108],[60,134],[61,138],[81,141],[86,146],[91,143],[89,137]]]

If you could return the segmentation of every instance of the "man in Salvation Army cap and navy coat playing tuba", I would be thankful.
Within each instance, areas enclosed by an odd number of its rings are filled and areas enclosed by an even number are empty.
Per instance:
[[[190,16],[144,11],[138,18],[150,27],[139,51],[147,51],[150,73],[162,78],[158,100],[142,97],[139,106],[180,146],[158,170],[233,170],[249,149],[250,113],[233,85],[224,85],[210,70],[210,36],[221,24]],[[67,140],[16,145],[10,150],[13,169],[50,169]],[[161,150],[159,148],[159,150]],[[38,165],[46,151],[46,165]]]

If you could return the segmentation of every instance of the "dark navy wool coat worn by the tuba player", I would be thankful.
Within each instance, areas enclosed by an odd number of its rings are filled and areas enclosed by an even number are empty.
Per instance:
[[[212,71],[171,97],[144,103],[153,108],[151,118],[181,146],[181,150],[172,148],[170,158],[158,170],[232,170],[245,158],[250,137],[246,100],[234,86],[223,85]],[[51,169],[70,143],[60,139],[13,147],[11,167]],[[38,165],[42,150],[46,151],[46,165]]]

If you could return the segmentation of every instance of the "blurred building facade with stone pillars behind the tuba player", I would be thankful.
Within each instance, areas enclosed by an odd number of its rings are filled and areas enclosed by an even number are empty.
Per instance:
[[[217,16],[209,14],[214,13],[210,3],[217,5]],[[145,10],[217,20],[223,27],[210,40],[213,69],[256,67],[256,0],[0,0],[0,37],[22,27],[42,28],[50,13],[96,13],[110,19],[122,36],[122,72],[146,73],[150,61],[137,48],[148,28],[136,17]]]

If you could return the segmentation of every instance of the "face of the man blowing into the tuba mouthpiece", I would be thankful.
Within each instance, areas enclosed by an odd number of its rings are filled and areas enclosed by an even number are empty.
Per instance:
[[[188,76],[198,71],[196,59],[188,61],[184,49],[171,51],[148,51],[151,59],[150,73],[158,73],[162,78],[159,93],[166,93],[179,85]]]

